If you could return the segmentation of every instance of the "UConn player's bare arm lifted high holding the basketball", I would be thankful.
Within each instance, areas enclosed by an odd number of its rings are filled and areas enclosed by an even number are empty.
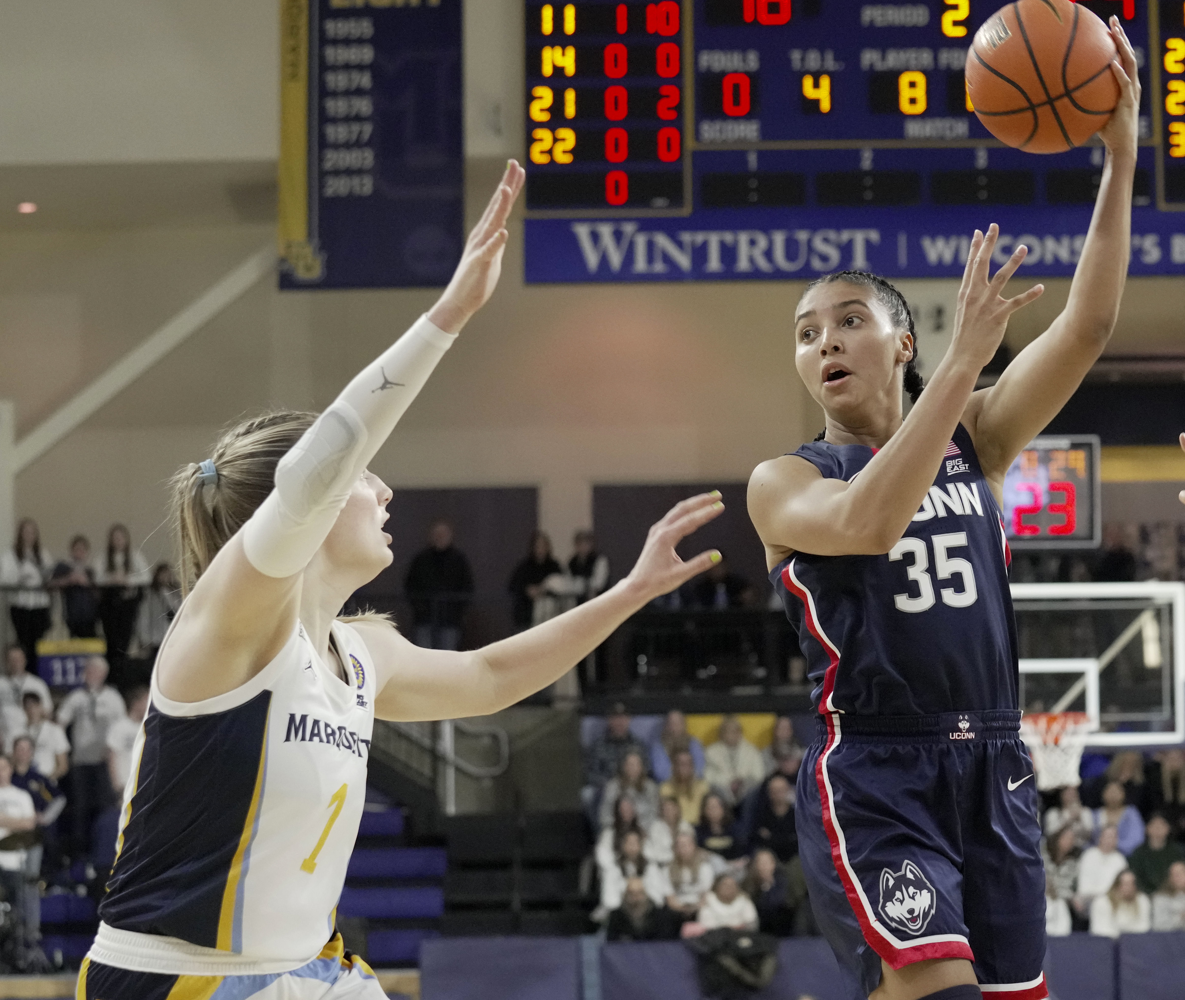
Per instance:
[[[1130,254],[1140,78],[1135,52],[1115,17],[1110,30],[1119,49],[1110,69],[1120,97],[1098,133],[1107,160],[1069,301],[1050,328],[1017,355],[994,386],[976,392],[968,408],[967,429],[988,479],[1001,480],[1012,460],[1065,405],[1106,348],[1119,315]]]

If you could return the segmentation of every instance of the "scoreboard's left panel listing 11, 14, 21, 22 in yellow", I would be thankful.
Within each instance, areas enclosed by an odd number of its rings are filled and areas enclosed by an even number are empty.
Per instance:
[[[686,34],[675,0],[527,5],[527,209],[684,209]]]

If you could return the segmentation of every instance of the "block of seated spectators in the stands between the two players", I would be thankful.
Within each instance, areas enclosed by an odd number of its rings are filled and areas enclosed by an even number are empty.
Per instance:
[[[584,788],[597,828],[594,917],[609,938],[815,932],[794,828],[802,755],[788,718],[766,754],[735,716],[705,748],[679,711],[645,745],[615,705],[587,750]]]

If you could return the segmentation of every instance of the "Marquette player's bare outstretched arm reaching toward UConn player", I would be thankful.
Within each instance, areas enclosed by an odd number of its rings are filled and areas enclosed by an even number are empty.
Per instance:
[[[672,507],[651,527],[629,576],[604,594],[481,649],[422,649],[386,622],[359,623],[378,664],[374,714],[402,722],[485,716],[558,680],[635,611],[719,562],[715,550],[687,560],[675,552],[723,512],[719,496],[704,493]]]

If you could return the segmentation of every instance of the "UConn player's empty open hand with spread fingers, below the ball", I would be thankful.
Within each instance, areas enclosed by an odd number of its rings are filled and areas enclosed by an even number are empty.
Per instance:
[[[1038,299],[1045,290],[1045,286],[1035,284],[1012,299],[1004,297],[1004,286],[1020,267],[1029,250],[1024,245],[1018,246],[1008,262],[992,277],[989,274],[992,252],[995,250],[999,236],[1000,229],[995,223],[987,227],[986,235],[975,230],[967,252],[962,284],[959,287],[952,351],[956,358],[974,364],[978,368],[992,360],[1000,341],[1004,340],[1008,318],[1017,309]]]

